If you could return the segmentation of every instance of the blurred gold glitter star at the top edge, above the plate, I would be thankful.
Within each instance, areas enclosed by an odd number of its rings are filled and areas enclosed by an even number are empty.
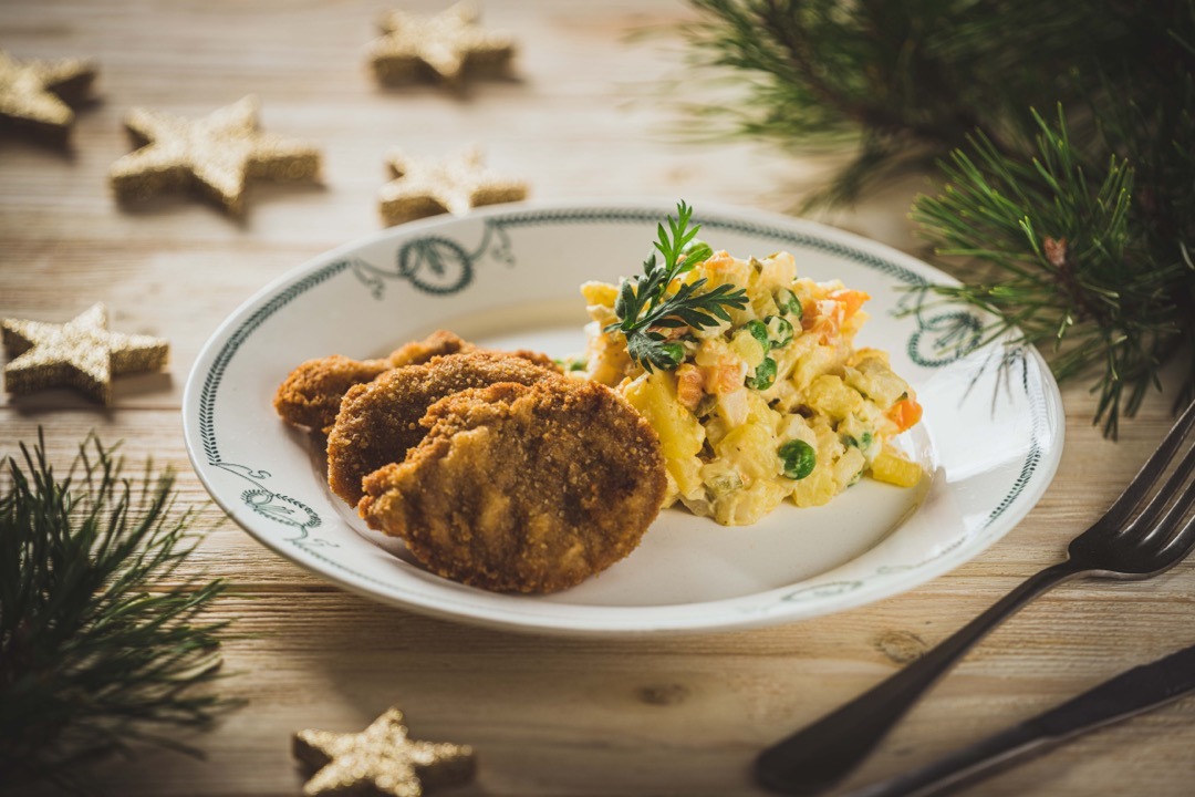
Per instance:
[[[381,19],[384,36],[369,47],[374,75],[386,85],[430,79],[460,88],[466,76],[509,74],[514,39],[479,27],[477,18],[465,4],[434,17],[387,13]]]

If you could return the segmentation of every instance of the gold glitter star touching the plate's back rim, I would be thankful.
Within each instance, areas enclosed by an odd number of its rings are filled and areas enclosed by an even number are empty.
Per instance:
[[[386,155],[386,163],[394,179],[381,186],[378,200],[387,225],[527,198],[525,182],[485,168],[476,148],[443,160],[409,158],[394,149]]]

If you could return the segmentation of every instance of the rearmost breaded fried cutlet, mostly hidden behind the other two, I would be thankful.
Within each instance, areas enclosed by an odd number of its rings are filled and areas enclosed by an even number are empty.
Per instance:
[[[393,368],[476,348],[452,332],[440,330],[396,349],[388,357],[351,360],[335,354],[308,360],[278,385],[274,409],[287,423],[327,434],[341,410],[341,399],[354,385],[373,381]]]

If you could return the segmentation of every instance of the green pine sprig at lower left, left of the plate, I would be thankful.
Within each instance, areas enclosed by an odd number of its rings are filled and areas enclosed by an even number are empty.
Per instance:
[[[174,474],[122,476],[91,435],[60,477],[41,430],[4,462],[0,495],[0,781],[79,787],[72,764],[130,742],[195,753],[168,731],[203,728],[234,701],[221,678],[227,588],[180,576],[197,544]]]

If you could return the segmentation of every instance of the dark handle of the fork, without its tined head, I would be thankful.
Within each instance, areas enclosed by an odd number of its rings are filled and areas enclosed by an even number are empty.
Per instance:
[[[972,645],[1038,595],[1083,572],[1072,562],[1064,562],[1030,576],[901,672],[760,753],[756,779],[773,791],[802,797],[833,787]]]

